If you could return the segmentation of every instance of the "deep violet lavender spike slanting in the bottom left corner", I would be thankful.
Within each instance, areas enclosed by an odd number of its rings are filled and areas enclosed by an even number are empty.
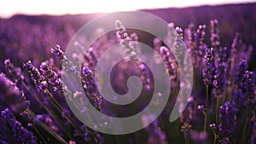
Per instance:
[[[36,137],[29,130],[26,130],[19,121],[16,120],[15,115],[7,108],[2,111],[2,118],[4,124],[6,124],[14,133],[15,138],[20,143],[37,143]]]

